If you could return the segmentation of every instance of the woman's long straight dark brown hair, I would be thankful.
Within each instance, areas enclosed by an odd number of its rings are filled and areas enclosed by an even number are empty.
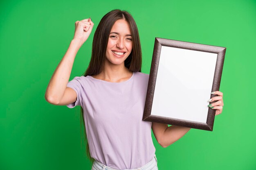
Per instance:
[[[141,72],[141,45],[139,41],[139,32],[135,20],[128,11],[121,11],[119,9],[114,9],[108,12],[101,18],[99,25],[96,28],[92,41],[92,57],[89,66],[83,76],[98,75],[103,71],[104,62],[106,59],[106,49],[108,45],[108,37],[112,26],[117,20],[126,20],[130,26],[130,31],[132,34],[132,51],[127,59],[124,61],[124,65],[131,72]],[[81,124],[85,129],[85,121],[83,118],[83,108],[81,107]],[[80,126],[81,127],[81,126]],[[88,140],[86,137],[86,131],[84,131],[85,141],[87,141],[86,153],[91,163],[94,159],[90,155],[90,149]]]

